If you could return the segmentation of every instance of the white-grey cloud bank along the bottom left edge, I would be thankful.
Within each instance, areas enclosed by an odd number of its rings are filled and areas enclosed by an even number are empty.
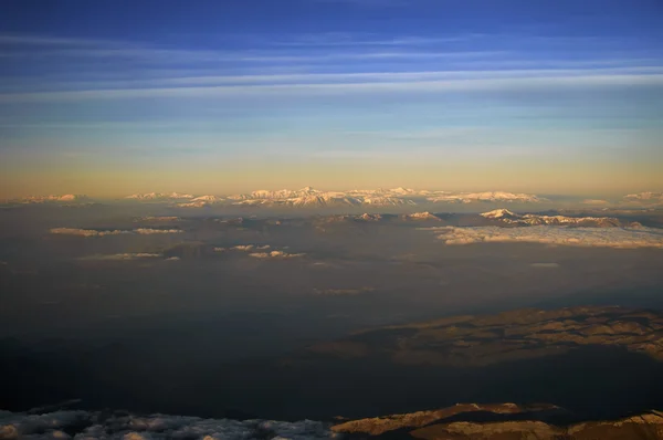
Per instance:
[[[319,421],[201,419],[185,416],[102,417],[101,412],[55,411],[42,415],[0,411],[2,439],[335,439]]]

